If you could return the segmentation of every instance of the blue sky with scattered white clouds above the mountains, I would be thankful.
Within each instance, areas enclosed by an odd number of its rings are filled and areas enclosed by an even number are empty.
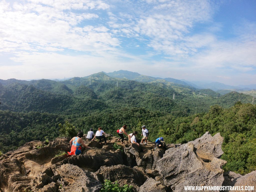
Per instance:
[[[0,79],[128,70],[256,84],[255,0],[0,0]]]

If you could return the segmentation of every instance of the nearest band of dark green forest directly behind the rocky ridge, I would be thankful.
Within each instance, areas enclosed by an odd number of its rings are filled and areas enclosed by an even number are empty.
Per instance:
[[[168,113],[152,112],[145,108],[119,108],[94,111],[83,115],[50,113],[18,113],[0,110],[0,150],[7,152],[32,140],[52,139],[59,135],[59,123],[68,120],[77,130],[85,133],[89,128],[103,127],[106,133],[128,124],[127,132],[141,130],[145,124],[149,140],[163,136],[166,143],[186,143],[206,131],[220,132],[224,137],[222,159],[225,169],[246,174],[256,169],[256,106],[237,102],[225,109],[212,106],[207,113],[175,117]],[[116,135],[117,136],[117,135]]]

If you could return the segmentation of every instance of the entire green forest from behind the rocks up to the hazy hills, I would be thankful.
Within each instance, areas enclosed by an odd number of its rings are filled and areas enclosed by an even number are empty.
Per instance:
[[[33,140],[52,140],[65,122],[84,133],[102,126],[113,135],[123,124],[128,124],[128,132],[141,131],[145,124],[150,141],[163,136],[166,143],[186,143],[206,131],[220,132],[225,169],[241,174],[256,169],[256,108],[250,95],[221,96],[210,89],[117,80],[104,73],[62,82],[0,83],[2,152]]]

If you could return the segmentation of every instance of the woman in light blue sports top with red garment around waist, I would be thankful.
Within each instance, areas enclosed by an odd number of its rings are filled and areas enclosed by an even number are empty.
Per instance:
[[[88,147],[86,144],[84,144],[83,140],[81,139],[83,137],[83,132],[79,131],[77,133],[77,137],[73,137],[70,141],[69,144],[71,146],[71,151],[68,152],[69,155],[79,155],[82,153],[81,151],[81,144],[85,147],[85,148],[91,148]]]

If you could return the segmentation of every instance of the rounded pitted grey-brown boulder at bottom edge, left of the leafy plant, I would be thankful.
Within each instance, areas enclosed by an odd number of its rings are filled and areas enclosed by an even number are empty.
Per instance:
[[[62,188],[60,191],[100,191],[102,185],[97,176],[88,170],[76,165],[61,165],[55,169],[61,176]]]

